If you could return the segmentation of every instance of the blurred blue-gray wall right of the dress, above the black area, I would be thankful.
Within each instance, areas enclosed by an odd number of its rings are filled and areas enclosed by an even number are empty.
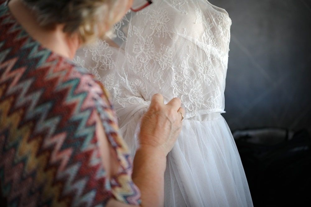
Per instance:
[[[223,114],[231,131],[311,132],[311,0],[210,0],[232,20]]]

